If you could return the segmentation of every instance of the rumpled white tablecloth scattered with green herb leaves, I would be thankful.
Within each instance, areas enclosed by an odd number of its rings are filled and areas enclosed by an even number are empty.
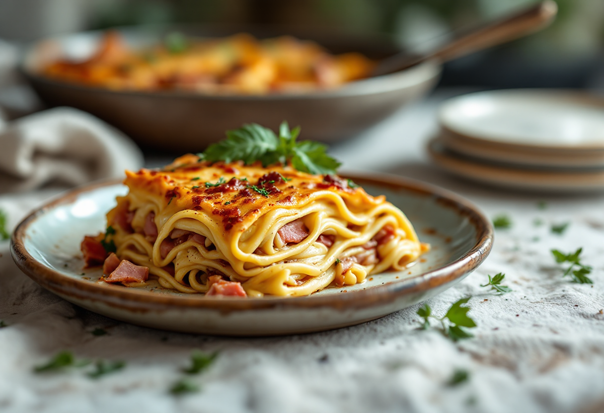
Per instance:
[[[14,267],[0,244],[0,411],[2,412],[602,412],[604,411],[604,197],[538,196],[479,187],[441,173],[426,159],[435,130],[428,101],[353,141],[332,147],[344,169],[402,174],[457,191],[488,216],[508,214],[485,263],[429,301],[442,315],[471,295],[475,338],[454,343],[417,330],[417,306],[356,327],[257,339],[187,335],[95,315],[46,292]],[[304,131],[304,129],[303,129]],[[304,133],[304,132],[303,132]],[[304,136],[302,135],[301,138]],[[153,160],[156,162],[157,160]],[[14,225],[43,195],[21,205],[1,197]],[[538,202],[547,202],[540,210]],[[535,226],[539,218],[544,225]],[[550,224],[570,222],[564,234]],[[594,284],[562,278],[550,249],[583,247]],[[480,284],[506,274],[513,292]],[[107,335],[91,331],[104,328]],[[195,380],[201,392],[176,397],[192,350],[220,351]],[[33,374],[60,350],[124,359],[124,370],[92,380],[80,370]],[[469,379],[447,382],[456,369]]]

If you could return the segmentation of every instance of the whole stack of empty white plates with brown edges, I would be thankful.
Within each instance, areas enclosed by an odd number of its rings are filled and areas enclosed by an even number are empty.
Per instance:
[[[525,190],[604,190],[602,99],[553,90],[480,92],[446,101],[439,121],[428,149],[451,173]]]

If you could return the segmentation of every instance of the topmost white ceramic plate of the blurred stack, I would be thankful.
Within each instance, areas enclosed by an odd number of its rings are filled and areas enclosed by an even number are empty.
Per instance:
[[[604,101],[588,94],[518,89],[467,94],[440,109],[443,128],[499,146],[604,151]]]

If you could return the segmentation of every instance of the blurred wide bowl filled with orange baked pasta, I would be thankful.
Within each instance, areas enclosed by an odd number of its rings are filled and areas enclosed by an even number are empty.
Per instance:
[[[436,62],[370,76],[399,50],[385,37],[342,33],[121,28],[40,40],[21,69],[48,105],[85,110],[176,155],[249,122],[303,124],[319,141],[353,136],[437,82]]]

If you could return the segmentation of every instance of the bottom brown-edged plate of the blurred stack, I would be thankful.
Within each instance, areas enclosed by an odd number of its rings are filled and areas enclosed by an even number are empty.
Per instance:
[[[451,152],[438,138],[428,144],[428,152],[432,160],[446,171],[483,184],[548,193],[604,191],[602,169],[582,171],[510,167]]]

